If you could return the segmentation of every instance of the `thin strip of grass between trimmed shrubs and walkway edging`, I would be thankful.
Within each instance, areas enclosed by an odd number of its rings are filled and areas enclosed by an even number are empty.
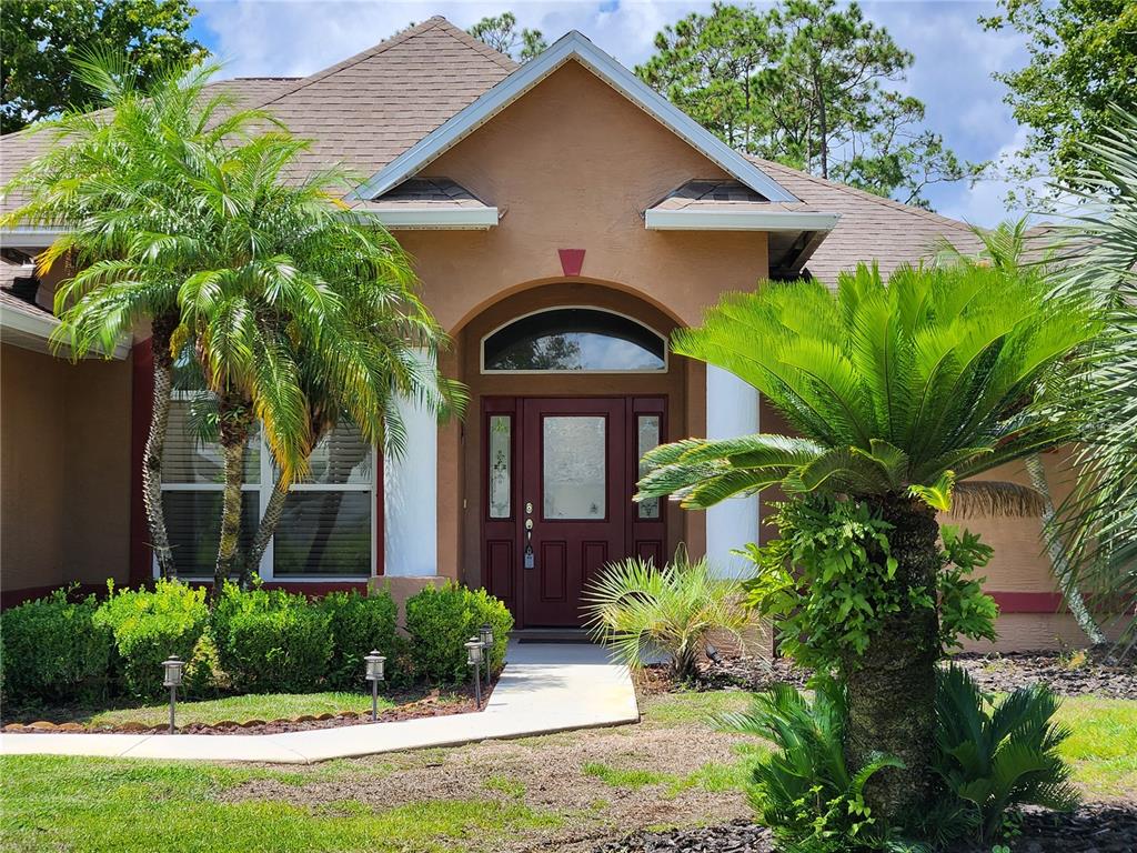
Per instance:
[[[395,707],[392,702],[379,697],[380,711]],[[276,693],[248,696],[227,696],[223,699],[201,702],[179,702],[177,724],[192,722],[215,723],[222,720],[247,722],[249,720],[296,719],[304,714],[335,714],[341,711],[354,713],[371,712],[371,696],[362,693]],[[169,720],[169,704],[143,705],[91,714],[82,722],[89,726],[122,726],[139,722],[143,726],[161,726]]]

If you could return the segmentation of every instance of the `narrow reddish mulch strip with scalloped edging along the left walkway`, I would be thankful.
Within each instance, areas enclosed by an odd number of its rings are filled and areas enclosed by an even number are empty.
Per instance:
[[[495,678],[489,688],[482,688],[482,709],[497,686]],[[438,690],[432,690],[428,696],[414,701],[405,701],[395,707],[379,712],[377,722],[398,722],[400,720],[417,720],[424,717],[450,717],[451,714],[468,714],[478,711],[473,688],[463,687],[460,693],[442,697]],[[421,694],[417,694],[421,696]],[[387,695],[384,698],[399,702],[399,696]],[[292,720],[221,720],[216,723],[192,722],[179,726],[176,734],[180,735],[281,735],[287,731],[308,731],[310,729],[332,729],[339,726],[359,726],[372,722],[371,713],[354,713],[345,711],[338,714],[324,713],[315,717],[304,714]],[[126,722],[121,726],[83,726],[77,722],[55,723],[47,720],[36,720],[26,724],[8,723],[3,731],[17,734],[168,734],[168,726],[143,726],[139,722]]]

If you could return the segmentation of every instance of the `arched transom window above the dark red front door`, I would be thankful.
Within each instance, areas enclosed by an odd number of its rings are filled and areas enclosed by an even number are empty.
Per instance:
[[[664,339],[598,308],[553,308],[498,329],[482,342],[487,373],[663,373]]]

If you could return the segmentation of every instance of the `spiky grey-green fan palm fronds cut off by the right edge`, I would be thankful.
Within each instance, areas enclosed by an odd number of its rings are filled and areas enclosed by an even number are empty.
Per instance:
[[[1065,274],[1060,292],[1090,298],[1106,333],[1079,362],[1085,431],[1078,486],[1053,525],[1088,585],[1121,601],[1137,596],[1137,115],[1087,146],[1084,204],[1057,229]],[[1137,631],[1137,620],[1129,626]]]

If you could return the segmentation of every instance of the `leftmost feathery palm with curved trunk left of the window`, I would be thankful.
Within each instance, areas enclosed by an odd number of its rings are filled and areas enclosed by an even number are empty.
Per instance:
[[[236,109],[231,97],[206,90],[215,65],[171,67],[144,90],[133,85],[136,75],[115,57],[91,56],[78,60],[76,69],[107,109],[73,109],[38,125],[33,132],[48,134],[52,144],[5,188],[6,196],[25,201],[0,218],[0,227],[65,231],[40,256],[41,274],[60,260],[89,267],[56,291],[61,321],[56,343],[68,345],[73,358],[109,354],[119,338],[150,324],[153,398],[142,491],[151,547],[161,575],[172,577],[161,458],[184,271],[164,268],[157,275],[144,270],[148,259],[132,246],[150,233],[193,233],[197,212],[186,175],[216,157],[226,140],[243,139],[268,119],[260,110]]]

